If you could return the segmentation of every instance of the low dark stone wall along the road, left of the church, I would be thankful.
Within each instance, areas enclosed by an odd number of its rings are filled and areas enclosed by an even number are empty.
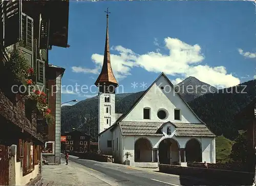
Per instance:
[[[100,162],[113,162],[113,156],[110,155],[103,155],[103,154],[97,154],[97,153],[82,153],[82,152],[72,152],[72,151],[66,151],[70,155],[78,156],[82,159],[91,159],[95,161]]]

